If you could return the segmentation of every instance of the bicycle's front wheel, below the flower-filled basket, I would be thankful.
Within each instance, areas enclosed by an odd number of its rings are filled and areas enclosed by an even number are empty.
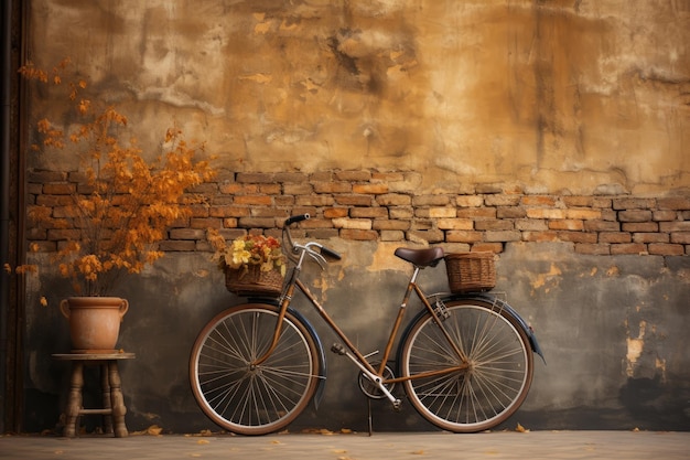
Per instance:
[[[200,333],[190,359],[190,381],[200,407],[215,424],[240,435],[266,435],[293,421],[319,383],[319,351],[302,322],[290,314],[278,346],[270,347],[278,311],[244,304],[215,317]]]

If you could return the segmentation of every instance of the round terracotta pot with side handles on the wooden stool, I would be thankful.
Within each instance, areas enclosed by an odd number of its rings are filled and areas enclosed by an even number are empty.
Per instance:
[[[114,353],[129,302],[119,297],[71,297],[60,302],[73,353]]]

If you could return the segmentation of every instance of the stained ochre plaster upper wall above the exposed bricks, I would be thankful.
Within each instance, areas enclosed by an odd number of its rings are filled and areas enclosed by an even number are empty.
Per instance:
[[[30,57],[71,56],[144,145],[174,117],[236,171],[690,185],[687,1],[42,0],[31,30]]]

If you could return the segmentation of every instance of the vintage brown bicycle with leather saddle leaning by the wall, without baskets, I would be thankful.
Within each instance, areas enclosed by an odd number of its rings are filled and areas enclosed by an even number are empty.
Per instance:
[[[476,432],[505,421],[522,404],[533,375],[533,354],[543,355],[531,329],[504,300],[487,293],[425,295],[420,270],[436,266],[441,247],[398,248],[413,266],[403,300],[380,360],[363,354],[300,279],[306,258],[322,269],[339,254],[315,242],[297,244],[289,217],[283,247],[293,266],[278,299],[248,299],[213,318],[198,334],[190,359],[190,379],[200,407],[215,424],[240,435],[285,428],[323,391],[325,354],[311,323],[290,307],[300,290],[342,343],[332,351],[358,368],[359,389],[399,409],[393,388],[401,384],[417,411],[444,430]],[[402,330],[414,292],[423,308]],[[397,367],[395,340],[401,336]],[[316,399],[319,400],[319,399]]]

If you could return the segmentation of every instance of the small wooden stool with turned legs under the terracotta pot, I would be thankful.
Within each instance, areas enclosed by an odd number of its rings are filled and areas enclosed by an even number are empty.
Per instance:
[[[105,415],[105,431],[114,432],[116,438],[127,437],[127,426],[125,425],[125,399],[120,374],[118,372],[118,361],[131,360],[134,353],[69,353],[54,354],[53,357],[60,361],[72,362],[72,377],[69,382],[69,397],[67,409],[65,410],[67,420],[65,421],[64,436],[73,438],[77,435],[77,420],[83,415]],[[84,366],[99,365],[100,382],[103,391],[101,409],[85,409],[83,407],[82,388],[84,387]]]

